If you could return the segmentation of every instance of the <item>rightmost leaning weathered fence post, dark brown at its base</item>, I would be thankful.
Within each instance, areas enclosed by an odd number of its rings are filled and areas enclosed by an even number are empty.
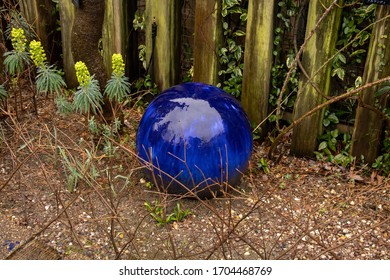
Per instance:
[[[389,15],[390,6],[377,7],[376,20]],[[373,28],[363,83],[368,84],[387,76],[390,76],[390,18],[376,23]],[[388,102],[386,95],[379,98],[375,96],[380,88],[381,85],[378,85],[362,91],[356,112],[351,153],[358,159],[363,155],[367,163],[374,162],[378,156],[383,131],[383,117],[372,110],[378,100],[382,108]]]

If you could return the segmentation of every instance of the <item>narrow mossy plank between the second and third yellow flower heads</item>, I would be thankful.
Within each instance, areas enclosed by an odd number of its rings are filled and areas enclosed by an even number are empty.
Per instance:
[[[60,0],[60,24],[62,40],[62,63],[65,73],[65,82],[69,88],[77,86],[75,61],[72,55],[72,28],[75,17],[75,6],[72,0]]]

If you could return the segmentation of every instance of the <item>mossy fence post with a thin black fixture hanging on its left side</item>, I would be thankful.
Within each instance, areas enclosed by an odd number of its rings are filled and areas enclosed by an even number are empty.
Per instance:
[[[160,91],[179,82],[181,2],[146,0],[146,57],[147,63],[152,63],[151,77]],[[155,41],[152,38],[153,23],[157,24]]]

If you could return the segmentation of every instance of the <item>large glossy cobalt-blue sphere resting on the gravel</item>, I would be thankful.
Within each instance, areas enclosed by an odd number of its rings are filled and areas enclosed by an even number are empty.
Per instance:
[[[136,147],[160,191],[211,198],[239,183],[252,132],[234,97],[211,85],[184,83],[146,108]]]

